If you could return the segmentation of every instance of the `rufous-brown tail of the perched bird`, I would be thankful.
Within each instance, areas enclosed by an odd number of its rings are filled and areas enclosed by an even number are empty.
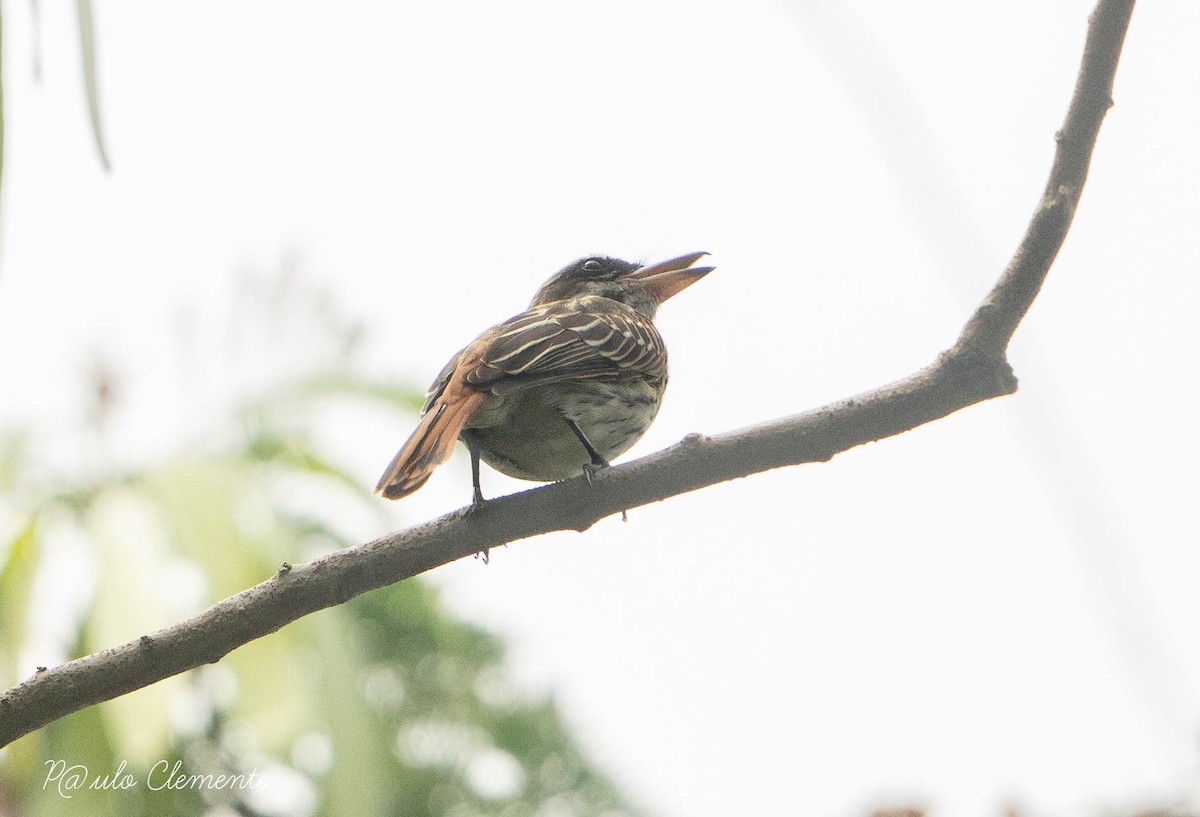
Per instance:
[[[434,468],[450,458],[458,434],[487,398],[484,392],[474,390],[455,392],[443,394],[425,413],[416,431],[379,477],[376,493],[388,499],[407,497],[425,485]]]

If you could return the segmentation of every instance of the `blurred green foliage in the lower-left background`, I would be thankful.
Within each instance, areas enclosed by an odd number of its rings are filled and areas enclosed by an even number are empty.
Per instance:
[[[328,306],[324,296],[288,292],[286,308]],[[354,344],[343,341],[354,329],[328,324],[335,352],[312,356],[316,374],[268,384],[233,422],[157,462],[128,470],[109,463],[83,481],[35,479],[29,437],[0,434],[5,686],[28,677],[26,665],[47,662],[55,645],[73,657],[122,643],[263,581],[284,560],[355,545],[347,519],[386,529],[378,498],[313,441],[313,417],[331,401],[408,411],[420,395],[347,374]],[[322,322],[299,325],[312,337]],[[103,407],[83,413],[96,434],[102,415],[119,410],[113,391],[106,376],[96,390]],[[70,570],[56,575],[64,565]],[[54,593],[65,584],[66,601]],[[259,786],[151,788],[176,763],[185,775],[253,773]],[[60,793],[72,767],[86,770],[84,787]],[[124,775],[130,788],[89,788]],[[635,812],[554,704],[512,684],[502,642],[450,615],[427,584],[407,581],[0,751],[0,817],[82,813]]]

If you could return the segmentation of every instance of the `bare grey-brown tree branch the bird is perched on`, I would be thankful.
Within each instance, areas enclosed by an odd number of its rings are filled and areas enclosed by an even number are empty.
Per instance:
[[[1045,193],[1000,281],[955,344],[926,368],[890,385],[754,428],[677,445],[582,477],[448,513],[280,572],[175,626],[40,671],[0,696],[0,746],[50,721],[221,660],[284,624],[367,590],[491,547],[552,530],[586,530],[618,511],[739,476],[823,462],[974,403],[1012,394],[1008,343],[1062,247],[1133,12],[1133,0],[1100,0],[1090,20],[1074,97]]]

